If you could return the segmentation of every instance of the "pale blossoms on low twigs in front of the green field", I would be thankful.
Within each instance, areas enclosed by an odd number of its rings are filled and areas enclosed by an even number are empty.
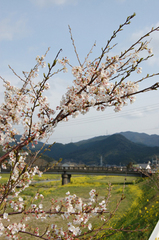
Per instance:
[[[22,197],[18,200],[9,201],[10,207],[17,212],[24,212],[20,223],[10,223],[10,217],[8,213],[3,214],[3,218],[0,219],[0,236],[6,236],[8,239],[19,239],[18,233],[26,232],[30,220],[30,215],[36,220],[45,220],[46,218],[54,218],[56,214],[60,214],[64,221],[67,221],[68,228],[62,229],[55,224],[51,224],[50,228],[47,229],[45,235],[48,239],[74,239],[82,233],[91,233],[93,231],[91,218],[94,216],[100,216],[101,221],[105,219],[106,213],[106,202],[102,200],[97,201],[97,192],[95,189],[90,191],[90,202],[84,203],[83,200],[77,197],[75,194],[71,195],[70,192],[66,193],[66,197],[57,204],[57,201],[52,201],[52,208],[49,212],[43,209],[43,204],[32,203],[28,210],[24,210],[25,202]],[[41,199],[43,200],[42,194],[36,194],[34,201]],[[72,221],[69,221],[72,220]],[[54,220],[53,220],[54,221]],[[4,222],[4,223],[3,223]],[[7,223],[8,222],[8,223]],[[34,236],[39,236],[39,229],[34,229]]]

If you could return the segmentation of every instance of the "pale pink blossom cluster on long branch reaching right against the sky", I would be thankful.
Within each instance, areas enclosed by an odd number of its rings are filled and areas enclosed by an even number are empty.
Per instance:
[[[143,45],[142,50],[147,47]],[[141,51],[141,49],[140,49]],[[127,55],[106,56],[105,62],[86,61],[85,65],[72,67],[74,76],[73,85],[68,87],[65,96],[62,96],[57,109],[65,115],[76,117],[79,112],[85,114],[91,107],[104,111],[108,106],[115,106],[115,111],[120,111],[123,106],[135,101],[134,93],[139,90],[138,82],[125,81],[132,71],[142,72],[138,67],[139,50],[134,50]],[[148,49],[150,53],[150,49]],[[60,61],[59,61],[60,62]],[[60,62],[63,64],[63,61]],[[66,63],[65,63],[66,65]],[[113,79],[119,78],[119,82]]]

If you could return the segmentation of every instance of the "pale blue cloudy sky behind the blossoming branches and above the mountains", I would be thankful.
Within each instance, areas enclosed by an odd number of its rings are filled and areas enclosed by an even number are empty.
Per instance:
[[[153,26],[159,25],[158,0],[0,0],[0,76],[18,86],[19,80],[8,64],[21,75],[22,71],[29,71],[34,66],[36,56],[44,54],[48,47],[51,49],[46,62],[51,63],[62,48],[60,57],[67,56],[76,66],[68,25],[81,60],[96,41],[93,59],[100,55],[112,32],[134,12],[136,17],[117,36],[114,43],[118,45],[111,54],[123,51]],[[143,76],[159,72],[159,32],[151,37],[150,47],[155,55],[143,64]],[[136,74],[131,80],[137,78]],[[70,72],[50,80],[48,98],[54,108],[72,80]],[[147,80],[144,86],[155,81],[159,81],[157,77]],[[3,91],[0,82],[1,102]],[[21,126],[18,128],[22,130]],[[134,104],[118,113],[113,108],[105,112],[92,109],[87,115],[70,118],[57,126],[50,142],[76,142],[121,131],[159,134],[159,91],[141,94]]]

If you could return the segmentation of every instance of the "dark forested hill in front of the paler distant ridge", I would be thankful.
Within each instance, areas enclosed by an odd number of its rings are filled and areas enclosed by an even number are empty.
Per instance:
[[[152,157],[159,155],[159,147],[134,143],[122,134],[114,134],[78,143],[56,143],[47,155],[56,160],[62,157],[63,161],[90,165],[99,164],[102,156],[104,164],[127,165],[129,162],[144,163],[152,160]]]

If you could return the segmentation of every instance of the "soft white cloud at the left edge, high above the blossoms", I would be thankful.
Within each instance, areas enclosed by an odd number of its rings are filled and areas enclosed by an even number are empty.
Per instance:
[[[26,21],[24,19],[14,20],[7,17],[0,21],[0,41],[23,38],[28,34]]]

